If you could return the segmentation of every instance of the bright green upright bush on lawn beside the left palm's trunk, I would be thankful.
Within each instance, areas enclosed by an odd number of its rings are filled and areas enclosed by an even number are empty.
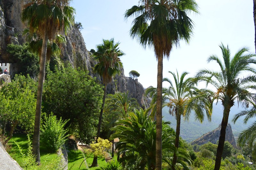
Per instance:
[[[67,130],[64,126],[68,121],[57,120],[52,113],[44,116],[44,124],[41,127],[41,140],[51,152],[57,151],[66,141]]]

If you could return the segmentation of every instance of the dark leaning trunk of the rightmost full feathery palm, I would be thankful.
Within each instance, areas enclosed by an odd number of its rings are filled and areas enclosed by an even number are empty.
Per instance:
[[[224,110],[225,110],[225,108],[224,108]],[[225,111],[223,113],[223,118],[222,118],[222,121],[221,121],[221,129],[220,129],[220,138],[219,138],[219,144],[218,144],[218,148],[217,148],[214,170],[219,170],[220,169],[221,156],[222,156],[224,143],[225,143],[226,128],[227,128],[227,125],[228,125],[229,112],[230,112],[230,108],[227,108],[226,109],[226,114],[227,114],[226,117],[224,116]]]

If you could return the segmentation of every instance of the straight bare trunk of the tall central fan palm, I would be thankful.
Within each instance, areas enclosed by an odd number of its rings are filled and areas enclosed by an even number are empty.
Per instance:
[[[157,62],[156,95],[156,170],[162,169],[162,91],[163,91],[163,53]]]

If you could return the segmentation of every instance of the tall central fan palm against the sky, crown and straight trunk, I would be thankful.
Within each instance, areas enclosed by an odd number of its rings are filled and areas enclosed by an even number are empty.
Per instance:
[[[194,0],[140,0],[138,6],[126,10],[125,18],[135,16],[130,35],[146,47],[153,48],[157,63],[156,169],[162,169],[162,81],[163,58],[169,58],[174,45],[187,42],[193,22],[187,12],[197,12]]]

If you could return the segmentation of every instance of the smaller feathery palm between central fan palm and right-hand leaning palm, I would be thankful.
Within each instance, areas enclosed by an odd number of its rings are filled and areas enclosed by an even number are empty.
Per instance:
[[[188,112],[188,116],[191,110],[195,110],[196,119],[201,123],[204,120],[204,111],[206,112],[207,118],[211,121],[212,115],[212,100],[210,93],[207,93],[206,90],[198,90],[192,82],[192,78],[185,79],[187,72],[183,72],[179,77],[178,71],[177,74],[170,72],[174,79],[174,84],[168,78],[164,78],[163,81],[167,81],[170,86],[169,88],[164,88],[164,96],[168,99],[169,103],[167,106],[170,108],[170,114],[174,115],[177,121],[176,124],[176,137],[175,137],[175,147],[179,148],[180,140],[180,118],[181,115],[185,116]],[[193,103],[193,104],[192,104]],[[187,107],[186,107],[187,106]],[[172,169],[175,169],[177,162],[177,155],[174,152],[172,160]]]

